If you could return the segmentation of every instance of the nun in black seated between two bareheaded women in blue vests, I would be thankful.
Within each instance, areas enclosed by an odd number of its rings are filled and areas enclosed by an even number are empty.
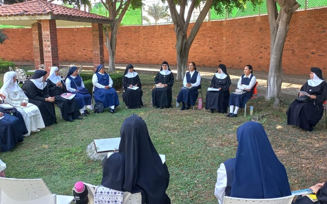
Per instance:
[[[217,88],[219,91],[207,91],[205,109],[210,109],[210,113],[213,113],[214,110],[217,110],[218,113],[226,113],[231,84],[231,78],[227,73],[226,66],[224,64],[218,65],[218,70],[211,80],[210,87]]]

